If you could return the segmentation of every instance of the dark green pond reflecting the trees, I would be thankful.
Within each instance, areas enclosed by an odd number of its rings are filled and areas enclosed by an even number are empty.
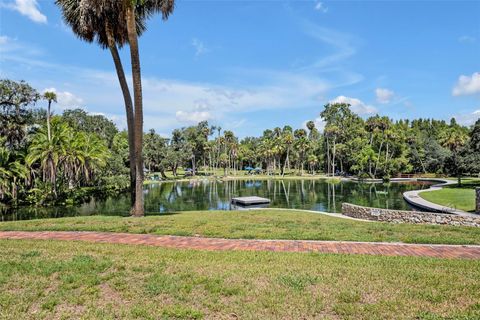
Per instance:
[[[405,191],[424,189],[429,182],[357,183],[327,180],[230,180],[165,182],[145,187],[145,213],[159,215],[172,211],[231,210],[230,199],[260,196],[270,199],[270,208],[296,208],[341,212],[342,202],[362,206],[412,210],[403,200]],[[0,221],[57,218],[84,215],[129,214],[128,194],[90,201],[69,207],[0,207]]]

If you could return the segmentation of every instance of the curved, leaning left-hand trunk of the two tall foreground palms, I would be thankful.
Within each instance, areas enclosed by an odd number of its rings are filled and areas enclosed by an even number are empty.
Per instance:
[[[133,114],[133,102],[130,95],[130,89],[128,88],[127,79],[125,77],[125,71],[123,70],[122,60],[118,54],[117,45],[114,43],[109,28],[107,27],[107,37],[110,53],[112,54],[113,62],[115,64],[115,70],[117,71],[118,81],[123,93],[123,101],[125,103],[125,113],[127,115],[127,133],[128,133],[128,154],[130,159],[130,205],[135,204],[135,131],[134,131],[134,114]]]

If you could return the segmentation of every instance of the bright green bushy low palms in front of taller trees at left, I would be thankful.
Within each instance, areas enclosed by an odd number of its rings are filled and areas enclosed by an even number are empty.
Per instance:
[[[3,138],[0,146],[0,201],[16,203],[19,195],[41,192],[41,199],[55,201],[61,192],[92,186],[110,157],[105,142],[96,134],[73,130],[54,117],[28,136],[27,147],[10,149]]]

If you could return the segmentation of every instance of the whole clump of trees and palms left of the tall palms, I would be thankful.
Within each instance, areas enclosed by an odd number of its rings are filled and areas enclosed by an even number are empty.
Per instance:
[[[40,95],[25,82],[0,80],[0,89],[0,116],[8,124],[0,137],[1,202],[55,203],[70,191],[100,187],[101,178],[115,171],[107,163],[114,152],[105,139],[112,126],[118,132],[111,121],[78,110],[52,117],[55,93]],[[41,101],[47,112],[32,108]]]

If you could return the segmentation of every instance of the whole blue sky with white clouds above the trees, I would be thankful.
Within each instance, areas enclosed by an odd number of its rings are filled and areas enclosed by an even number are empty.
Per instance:
[[[47,0],[0,0],[0,77],[124,126],[108,51]],[[209,120],[240,136],[302,127],[330,101],[362,117],[480,117],[480,1],[181,1],[140,40],[145,129]],[[128,48],[122,50],[129,70]]]

